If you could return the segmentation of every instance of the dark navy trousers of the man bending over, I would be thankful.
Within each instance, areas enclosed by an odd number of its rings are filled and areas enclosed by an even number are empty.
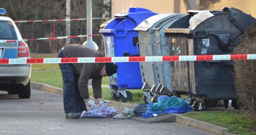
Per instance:
[[[63,58],[62,49],[59,51],[58,58]],[[78,88],[79,76],[73,73],[71,63],[59,63],[63,81],[63,104],[65,113],[87,111],[84,99],[81,97]]]

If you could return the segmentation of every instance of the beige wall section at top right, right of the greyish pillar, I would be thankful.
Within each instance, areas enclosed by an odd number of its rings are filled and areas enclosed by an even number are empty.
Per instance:
[[[256,17],[256,0],[200,0],[200,10],[221,10],[235,7],[246,14]]]

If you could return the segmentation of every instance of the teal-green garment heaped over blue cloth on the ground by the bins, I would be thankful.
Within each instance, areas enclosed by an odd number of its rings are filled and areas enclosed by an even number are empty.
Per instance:
[[[186,102],[184,98],[177,98],[172,96],[165,98],[164,100],[157,101],[154,105],[148,107],[147,110],[165,112],[166,108],[168,107],[182,107],[185,105],[185,103]]]

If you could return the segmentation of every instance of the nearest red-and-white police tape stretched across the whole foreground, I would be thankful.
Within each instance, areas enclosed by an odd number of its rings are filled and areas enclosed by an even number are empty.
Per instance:
[[[132,56],[89,58],[9,58],[0,64],[49,64],[49,63],[109,63],[109,62],[164,62],[164,61],[229,61],[256,60],[256,54],[195,55],[195,56]]]

